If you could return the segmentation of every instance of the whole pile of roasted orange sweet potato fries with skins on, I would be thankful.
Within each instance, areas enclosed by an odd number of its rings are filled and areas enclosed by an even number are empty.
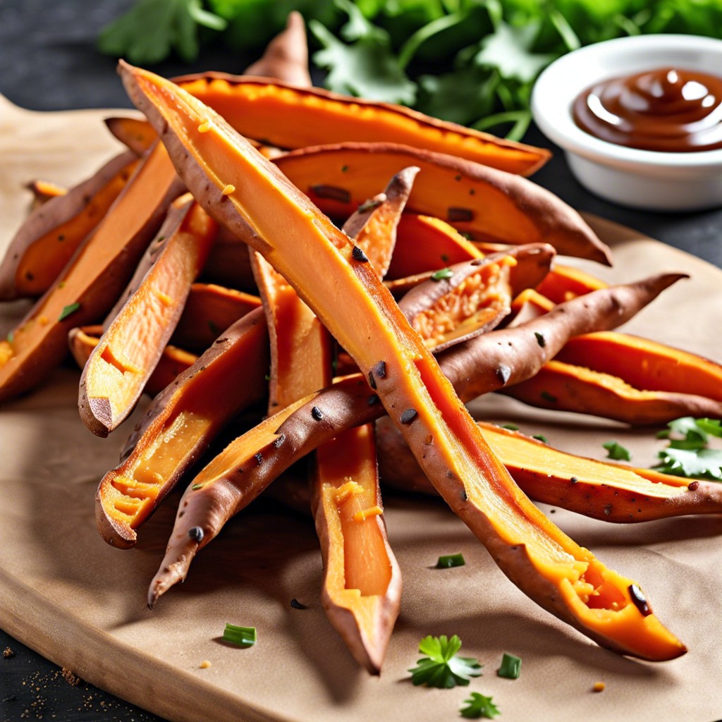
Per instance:
[[[629,424],[722,417],[720,365],[614,331],[683,274],[608,286],[557,263],[612,257],[523,177],[546,151],[311,87],[299,16],[247,76],[121,75],[147,119],[108,120],[127,150],[89,180],[35,183],[0,266],[2,300],[38,299],[0,342],[0,400],[68,349],[95,434],[155,395],[96,498],[100,534],[129,548],[188,482],[149,604],[314,452],[323,605],[378,673],[401,596],[378,451],[384,479],[440,494],[552,614],[622,654],[683,654],[638,585],[531,500],[627,522],[719,513],[721,490],[570,456],[464,406],[498,391]],[[264,399],[268,415],[186,479]]]

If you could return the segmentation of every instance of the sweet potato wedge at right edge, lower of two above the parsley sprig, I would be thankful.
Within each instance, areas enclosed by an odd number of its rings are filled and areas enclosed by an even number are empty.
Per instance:
[[[609,373],[557,360],[503,393],[541,409],[591,414],[635,426],[663,425],[682,416],[722,418],[722,401],[694,393],[643,391]]]

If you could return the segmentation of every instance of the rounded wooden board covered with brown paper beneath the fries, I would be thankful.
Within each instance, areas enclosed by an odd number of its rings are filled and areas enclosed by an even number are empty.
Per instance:
[[[25,183],[75,183],[117,144],[103,111],[29,113],[0,100],[0,248],[27,211]],[[687,271],[627,326],[630,332],[720,359],[722,271],[623,227],[592,219],[614,248],[614,269],[581,264],[607,280]],[[0,332],[27,304],[0,307]],[[0,409],[0,627],[56,664],[173,721],[443,721],[468,692],[491,695],[503,721],[635,722],[722,717],[722,519],[679,518],[612,526],[546,508],[610,567],[641,584],[658,617],[690,652],[647,664],[605,651],[526,599],[463,523],[438,500],[386,499],[389,539],[404,573],[404,599],[380,678],[357,668],[324,617],[321,560],[309,519],[270,505],[230,523],[153,612],[147,584],[175,516],[172,497],[135,549],[97,535],[94,494],[115,466],[134,419],[95,438],[76,410],[79,374],[53,373],[35,393]],[[586,456],[603,458],[614,438],[651,466],[663,445],[650,430],[571,414],[549,415],[510,399],[474,411]],[[462,552],[466,565],[433,567]],[[293,609],[291,599],[308,605]],[[258,643],[232,648],[225,622],[255,626]],[[458,634],[462,653],[484,664],[469,687],[413,687],[408,669],[427,634]],[[520,679],[496,676],[503,652],[523,659]],[[201,669],[201,661],[212,666]],[[594,682],[606,683],[601,694]]]

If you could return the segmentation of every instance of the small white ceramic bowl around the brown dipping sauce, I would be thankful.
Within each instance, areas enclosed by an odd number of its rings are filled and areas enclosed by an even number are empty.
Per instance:
[[[722,40],[695,35],[636,35],[606,40],[554,61],[534,85],[539,129],[565,151],[578,181],[609,201],[679,211],[722,205],[722,149],[657,152],[612,144],[575,125],[572,104],[608,78],[662,67],[722,74]]]

